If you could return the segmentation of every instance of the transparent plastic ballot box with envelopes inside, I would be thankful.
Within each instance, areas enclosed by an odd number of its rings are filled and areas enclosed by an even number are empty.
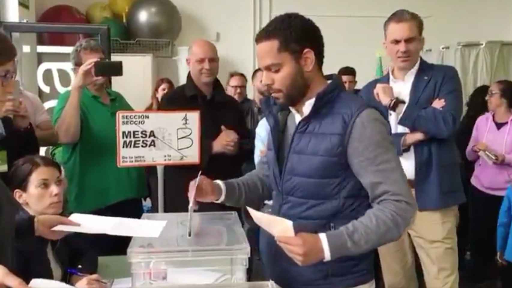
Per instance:
[[[239,283],[246,281],[249,242],[236,212],[144,214],[167,220],[158,238],[134,237],[127,250],[132,286]]]

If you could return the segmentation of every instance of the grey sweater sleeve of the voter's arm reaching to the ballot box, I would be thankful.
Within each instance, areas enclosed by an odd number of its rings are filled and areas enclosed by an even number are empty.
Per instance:
[[[255,170],[240,178],[224,181],[226,195],[223,204],[260,210],[263,202],[272,198],[272,191],[267,184],[268,170],[267,158],[262,157]]]

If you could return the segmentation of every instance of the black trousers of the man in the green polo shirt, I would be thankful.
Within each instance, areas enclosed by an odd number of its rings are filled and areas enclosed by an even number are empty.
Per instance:
[[[120,201],[89,214],[140,219],[142,216],[142,200],[132,198]],[[126,250],[132,240],[132,237],[106,234],[82,234],[82,237],[89,243],[89,247],[98,253],[98,256],[126,255]]]

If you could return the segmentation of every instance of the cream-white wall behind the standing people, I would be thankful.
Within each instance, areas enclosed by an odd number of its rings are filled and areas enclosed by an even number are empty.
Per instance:
[[[61,3],[85,11],[97,0],[37,0],[36,16]],[[106,0],[104,0],[106,2]],[[219,78],[225,81],[232,69],[249,75],[254,66],[253,37],[273,15],[299,12],[321,28],[326,42],[325,73],[352,65],[359,86],[373,78],[375,54],[381,50],[382,24],[396,9],[410,9],[425,17],[425,48],[438,51],[441,45],[468,40],[511,40],[510,0],[173,0],[182,14],[183,29],[178,46],[195,38],[212,38],[221,56]],[[386,61],[385,61],[386,65]],[[166,73],[160,69],[160,73]]]

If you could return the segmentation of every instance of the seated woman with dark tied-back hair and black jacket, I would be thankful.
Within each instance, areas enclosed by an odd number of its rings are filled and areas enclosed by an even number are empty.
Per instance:
[[[14,163],[9,172],[9,188],[22,205],[16,220],[62,212],[66,180],[55,161],[39,155],[26,156]],[[49,241],[33,236],[16,241],[14,272],[27,283],[34,278],[63,281],[79,288],[106,288],[98,275],[70,275],[68,269],[94,274],[98,257],[77,234]]]

